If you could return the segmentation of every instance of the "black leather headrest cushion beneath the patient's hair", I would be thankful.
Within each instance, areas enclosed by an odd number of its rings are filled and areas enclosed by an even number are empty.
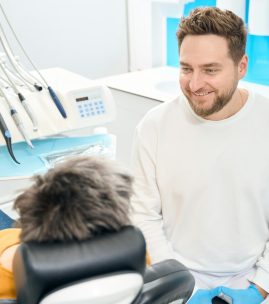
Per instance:
[[[132,226],[83,242],[20,245],[13,271],[17,302],[35,304],[72,282],[119,271],[144,274],[145,240]]]

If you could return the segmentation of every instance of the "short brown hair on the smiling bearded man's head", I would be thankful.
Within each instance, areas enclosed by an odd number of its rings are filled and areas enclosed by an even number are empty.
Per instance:
[[[196,8],[182,18],[177,31],[178,46],[187,35],[218,35],[227,39],[229,55],[238,63],[245,54],[247,29],[243,20],[229,10]]]

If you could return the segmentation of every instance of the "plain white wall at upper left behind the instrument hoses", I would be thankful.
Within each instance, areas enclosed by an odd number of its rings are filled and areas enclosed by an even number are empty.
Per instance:
[[[92,79],[128,71],[125,0],[1,0],[1,4],[40,69],[58,66]],[[0,20],[3,23],[2,14]],[[14,52],[21,54],[17,47]]]

